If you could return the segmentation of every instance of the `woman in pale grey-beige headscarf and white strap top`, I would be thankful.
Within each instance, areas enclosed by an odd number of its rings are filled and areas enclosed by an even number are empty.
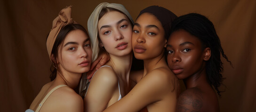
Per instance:
[[[133,20],[121,4],[101,3],[88,19],[93,61],[107,52],[110,61],[93,75],[84,98],[85,112],[102,112],[129,92]]]

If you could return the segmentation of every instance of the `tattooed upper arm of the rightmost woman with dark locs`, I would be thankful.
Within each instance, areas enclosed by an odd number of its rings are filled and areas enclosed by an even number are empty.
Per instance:
[[[180,94],[176,112],[200,111],[202,105],[203,97],[201,91],[197,88],[191,88]]]

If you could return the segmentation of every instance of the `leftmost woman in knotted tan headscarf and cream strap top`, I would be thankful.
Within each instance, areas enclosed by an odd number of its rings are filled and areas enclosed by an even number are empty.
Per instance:
[[[47,38],[53,65],[51,82],[45,84],[26,112],[82,112],[83,99],[77,88],[88,72],[92,49],[87,31],[71,18],[71,7],[62,9]]]

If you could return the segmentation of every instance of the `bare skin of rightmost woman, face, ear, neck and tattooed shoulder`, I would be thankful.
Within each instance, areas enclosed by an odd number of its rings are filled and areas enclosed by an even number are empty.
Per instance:
[[[178,98],[176,112],[219,112],[218,98],[206,77],[210,48],[203,47],[199,38],[180,29],[170,35],[167,50],[169,68],[186,86]]]

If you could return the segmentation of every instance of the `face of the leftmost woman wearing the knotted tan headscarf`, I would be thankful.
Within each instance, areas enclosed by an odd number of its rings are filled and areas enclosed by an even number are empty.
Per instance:
[[[92,49],[90,39],[82,30],[76,29],[66,35],[58,52],[62,71],[85,73],[90,70]],[[60,55],[61,54],[61,55]]]

